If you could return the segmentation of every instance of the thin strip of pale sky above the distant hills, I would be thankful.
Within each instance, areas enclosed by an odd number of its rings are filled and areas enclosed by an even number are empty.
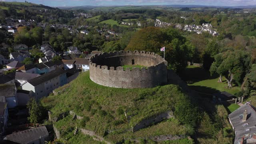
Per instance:
[[[14,1],[14,0],[0,0]],[[24,2],[25,0],[16,0]],[[256,0],[27,0],[46,6],[124,6],[124,5],[168,5],[193,4],[207,6],[248,6],[256,5]]]

